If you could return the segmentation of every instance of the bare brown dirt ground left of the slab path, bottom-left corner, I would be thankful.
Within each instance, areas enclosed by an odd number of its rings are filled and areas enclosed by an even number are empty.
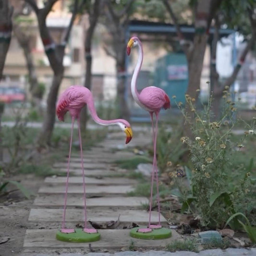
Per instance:
[[[28,174],[16,176],[15,180],[36,195],[44,178]],[[25,231],[33,228],[27,226],[27,220],[34,198],[28,200],[20,191],[0,198],[0,256],[21,255]]]

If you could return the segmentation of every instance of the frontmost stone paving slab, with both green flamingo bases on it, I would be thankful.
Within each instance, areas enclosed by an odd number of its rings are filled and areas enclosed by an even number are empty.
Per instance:
[[[56,240],[57,230],[26,230],[24,247],[53,247],[53,248],[75,248],[87,247],[86,243],[67,243]],[[180,235],[176,231],[172,231],[171,238],[163,240],[142,240],[135,239],[129,236],[130,230],[100,230],[101,239],[97,242],[92,242],[94,249],[122,248],[129,246],[131,240],[135,242],[134,246],[140,248],[165,248],[171,241],[180,239]]]

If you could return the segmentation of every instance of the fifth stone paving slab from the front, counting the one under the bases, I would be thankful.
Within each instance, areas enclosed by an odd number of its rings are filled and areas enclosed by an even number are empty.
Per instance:
[[[47,177],[45,178],[45,183],[66,183],[67,178],[66,177]],[[82,184],[83,183],[83,177],[69,177],[69,184]],[[137,182],[134,179],[127,179],[127,178],[108,178],[103,177],[100,179],[97,178],[91,178],[91,177],[85,177],[85,183],[86,184],[106,184],[106,185],[112,185],[112,184],[136,184]]]

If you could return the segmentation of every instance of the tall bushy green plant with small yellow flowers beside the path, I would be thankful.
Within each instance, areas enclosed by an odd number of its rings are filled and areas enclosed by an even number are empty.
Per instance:
[[[186,207],[183,204],[183,210],[194,205],[202,225],[213,228],[223,227],[226,219],[237,211],[243,211],[253,221],[256,205],[253,196],[256,185],[251,172],[246,169],[236,172],[236,166],[233,164],[237,154],[242,154],[241,149],[244,148],[246,140],[255,138],[255,120],[246,124],[248,130],[242,140],[232,141],[232,130],[235,127],[232,115],[236,108],[227,91],[224,91],[223,98],[226,100],[224,111],[221,118],[215,122],[211,112],[211,97],[201,111],[196,110],[195,100],[186,95],[187,105],[195,115],[194,120],[188,119],[187,113],[181,104],[178,104],[185,122],[190,123],[193,131],[192,137],[181,138],[189,148],[193,165],[189,175],[192,189],[183,197],[183,203],[187,205]],[[248,170],[252,168],[253,160],[250,160]],[[186,200],[187,198],[189,200]],[[237,224],[237,221],[233,221],[233,228],[237,228]]]

